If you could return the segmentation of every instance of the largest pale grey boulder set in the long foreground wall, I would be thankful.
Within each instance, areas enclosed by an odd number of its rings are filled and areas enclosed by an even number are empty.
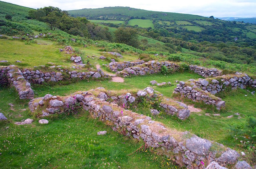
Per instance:
[[[208,140],[198,136],[186,140],[186,148],[197,155],[207,155],[211,146]]]

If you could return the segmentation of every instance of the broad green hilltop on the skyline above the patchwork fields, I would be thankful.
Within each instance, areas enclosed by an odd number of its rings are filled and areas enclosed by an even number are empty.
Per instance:
[[[131,10],[129,10],[131,9]],[[204,20],[206,17],[201,17],[198,15],[191,14],[178,14],[172,12],[157,12],[157,11],[147,11],[143,9],[129,8],[129,7],[105,7],[105,8],[97,8],[97,9],[79,9],[79,10],[71,10],[68,11],[70,15],[73,16],[84,16],[90,19],[96,19],[102,16],[116,16],[116,14],[121,14],[123,18],[127,18],[128,16],[133,17],[145,17],[146,19],[152,19],[152,15],[156,15],[158,19],[164,20],[181,20],[181,18],[186,18],[186,20]],[[166,14],[166,15],[163,15]]]

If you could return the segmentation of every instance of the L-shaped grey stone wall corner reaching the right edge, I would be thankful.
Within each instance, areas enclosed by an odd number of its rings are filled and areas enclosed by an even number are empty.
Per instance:
[[[225,107],[225,101],[214,96],[216,93],[224,91],[226,87],[244,89],[246,86],[256,88],[256,80],[251,79],[245,73],[235,75],[223,75],[208,79],[190,79],[187,82],[180,82],[174,90],[174,94],[180,93],[181,96],[193,101],[203,101],[205,104],[213,104],[218,110]]]

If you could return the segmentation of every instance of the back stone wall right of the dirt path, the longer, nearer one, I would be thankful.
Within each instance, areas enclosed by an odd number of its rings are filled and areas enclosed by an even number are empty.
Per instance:
[[[172,62],[155,62],[149,61],[145,62],[142,65],[134,66],[131,68],[125,68],[122,71],[117,72],[116,74],[119,74],[121,76],[143,76],[145,74],[154,74],[154,73],[160,73],[162,66],[166,66],[168,69],[172,70],[178,70],[179,65]]]

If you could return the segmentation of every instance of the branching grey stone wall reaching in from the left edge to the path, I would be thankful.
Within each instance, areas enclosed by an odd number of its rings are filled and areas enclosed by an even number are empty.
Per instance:
[[[15,65],[0,67],[0,85],[12,85],[17,90],[20,99],[34,99],[34,91],[31,84],[42,84],[43,82],[58,82],[73,78],[108,78],[101,69],[89,70],[87,72],[70,71],[67,69],[52,69],[50,72],[41,70],[23,69],[20,70]]]

